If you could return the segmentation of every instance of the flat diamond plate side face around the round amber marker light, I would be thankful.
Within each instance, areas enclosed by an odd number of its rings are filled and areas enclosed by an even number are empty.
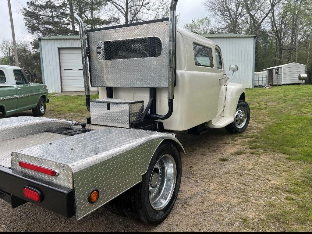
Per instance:
[[[161,142],[162,139],[148,142],[74,173],[77,219],[141,182],[142,175],[146,173],[149,161]],[[88,194],[94,188],[99,190],[100,197],[96,203],[90,204]]]

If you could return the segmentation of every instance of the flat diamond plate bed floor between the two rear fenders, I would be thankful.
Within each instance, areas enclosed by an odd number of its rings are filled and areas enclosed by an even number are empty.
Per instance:
[[[11,154],[13,151],[26,149],[35,145],[43,144],[46,142],[63,139],[69,137],[67,135],[56,133],[40,133],[16,139],[2,141],[0,151],[0,165],[3,167],[11,167]]]

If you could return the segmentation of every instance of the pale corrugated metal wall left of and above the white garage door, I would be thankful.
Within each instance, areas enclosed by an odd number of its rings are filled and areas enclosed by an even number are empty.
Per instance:
[[[44,82],[49,93],[61,92],[59,48],[80,48],[77,39],[41,39]]]

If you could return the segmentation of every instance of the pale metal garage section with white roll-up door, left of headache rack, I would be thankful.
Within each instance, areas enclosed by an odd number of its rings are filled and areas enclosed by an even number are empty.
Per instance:
[[[43,37],[39,46],[42,81],[50,93],[85,90],[79,35]]]

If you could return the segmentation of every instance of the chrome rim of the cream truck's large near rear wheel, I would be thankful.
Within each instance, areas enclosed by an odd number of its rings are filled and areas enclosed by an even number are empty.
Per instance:
[[[149,202],[154,210],[163,209],[170,201],[177,178],[173,157],[163,155],[157,161],[149,179]]]

